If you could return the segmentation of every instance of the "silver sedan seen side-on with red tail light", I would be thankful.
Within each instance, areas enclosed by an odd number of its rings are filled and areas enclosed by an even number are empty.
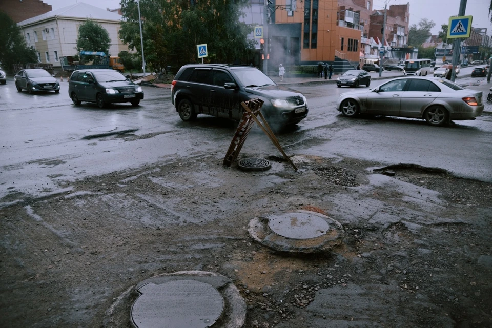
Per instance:
[[[395,78],[370,90],[346,92],[337,101],[337,110],[345,116],[366,113],[421,118],[434,126],[475,119],[482,115],[483,107],[482,91],[420,76]]]

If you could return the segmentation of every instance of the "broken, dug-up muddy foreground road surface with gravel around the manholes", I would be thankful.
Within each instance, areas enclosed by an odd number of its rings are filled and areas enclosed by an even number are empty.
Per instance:
[[[226,168],[212,153],[8,196],[20,201],[0,208],[3,321],[130,327],[105,324],[120,295],[115,315],[129,317],[138,282],[202,270],[239,289],[245,327],[492,325],[491,183],[302,154],[296,172],[246,156],[272,169]],[[252,218],[295,210],[339,221],[342,247],[286,254],[249,238]]]

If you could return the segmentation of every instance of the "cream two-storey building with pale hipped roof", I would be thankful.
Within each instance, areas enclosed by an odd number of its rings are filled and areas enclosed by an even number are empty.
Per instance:
[[[78,3],[19,22],[26,42],[36,49],[39,63],[59,67],[60,57],[77,54],[78,28],[87,19],[103,26],[109,33],[111,44],[109,53],[113,56],[120,51],[128,51],[119,37],[121,16],[117,13]],[[93,51],[92,49],[85,49]]]

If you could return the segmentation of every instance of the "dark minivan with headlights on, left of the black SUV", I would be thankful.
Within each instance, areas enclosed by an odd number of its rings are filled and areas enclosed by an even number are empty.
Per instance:
[[[138,106],[144,99],[142,87],[113,69],[77,70],[70,76],[68,94],[74,105],[82,101],[96,103],[104,108],[113,103],[131,103]]]

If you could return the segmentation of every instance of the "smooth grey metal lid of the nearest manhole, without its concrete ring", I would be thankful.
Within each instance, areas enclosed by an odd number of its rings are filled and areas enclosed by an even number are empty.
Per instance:
[[[224,309],[220,293],[208,283],[176,280],[148,283],[138,289],[132,307],[137,328],[206,328],[212,326]]]

